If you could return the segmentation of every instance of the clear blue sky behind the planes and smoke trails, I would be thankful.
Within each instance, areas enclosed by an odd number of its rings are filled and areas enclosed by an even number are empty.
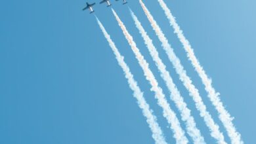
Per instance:
[[[116,58],[95,16],[82,11],[86,1],[8,0],[0,2],[0,143],[3,144],[131,144],[154,143]],[[89,1],[93,3],[94,1]],[[156,104],[150,85],[116,20],[106,5],[95,1],[95,14],[112,36],[169,143],[173,134]],[[256,134],[256,1],[169,1],[168,7],[190,41],[196,56],[245,143]],[[206,96],[203,84],[157,1],[144,1],[200,90],[213,118],[230,139]],[[198,128],[214,143],[194,102],[167,59],[139,1],[121,5],[112,0],[140,51],[150,63],[171,108],[181,118],[127,6],[154,40]],[[184,123],[182,123],[184,128]]]

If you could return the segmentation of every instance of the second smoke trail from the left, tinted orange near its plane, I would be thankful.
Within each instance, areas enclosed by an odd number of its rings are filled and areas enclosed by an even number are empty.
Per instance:
[[[156,78],[154,77],[152,71],[148,67],[148,63],[146,62],[146,60],[144,60],[142,54],[140,54],[139,48],[137,48],[136,43],[133,41],[133,37],[129,34],[129,32],[127,31],[123,22],[121,22],[119,16],[117,16],[114,9],[112,9],[112,12],[123,31],[123,35],[125,35],[125,38],[127,39],[129,45],[131,46],[131,49],[135,53],[135,56],[139,61],[140,67],[142,67],[144,71],[146,79],[150,82],[152,86],[151,90],[155,92],[155,97],[156,99],[158,99],[158,105],[160,105],[163,108],[163,117],[165,117],[167,119],[167,122],[170,124],[171,130],[173,130],[174,134],[173,137],[175,137],[177,143],[188,143],[188,139],[184,135],[184,131],[181,128],[178,118],[176,117],[175,113],[171,110],[169,103],[165,99],[163,91],[161,90],[160,86],[158,86],[158,81],[156,81]]]

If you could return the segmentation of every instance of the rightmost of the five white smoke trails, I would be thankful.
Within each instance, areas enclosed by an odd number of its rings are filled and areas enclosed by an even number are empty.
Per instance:
[[[213,105],[215,106],[215,109],[217,109],[219,113],[219,118],[221,122],[223,122],[224,127],[226,128],[226,131],[228,132],[228,136],[231,139],[232,143],[244,143],[241,139],[241,135],[236,131],[236,128],[234,124],[232,123],[232,117],[226,111],[225,107],[223,106],[223,103],[221,102],[221,99],[219,98],[219,93],[215,91],[215,88],[211,85],[211,79],[207,77],[205,71],[203,70],[203,67],[200,65],[200,62],[196,58],[194,54],[194,50],[192,49],[189,41],[184,37],[184,34],[182,33],[181,28],[177,24],[175,17],[173,14],[171,14],[171,10],[168,9],[167,5],[163,2],[163,0],[158,0],[158,2],[161,5],[161,8],[164,10],[165,15],[169,19],[169,22],[171,26],[174,29],[174,32],[177,34],[177,37],[181,41],[184,49],[186,50],[188,59],[196,69],[198,75],[202,79],[202,82],[205,86],[205,90],[208,93],[208,98],[211,100]]]

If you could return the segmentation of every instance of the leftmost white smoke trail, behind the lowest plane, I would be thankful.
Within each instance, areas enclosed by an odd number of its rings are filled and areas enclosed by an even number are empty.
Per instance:
[[[139,86],[137,85],[137,82],[135,81],[135,79],[133,79],[133,74],[131,74],[128,65],[124,62],[123,56],[121,56],[121,54],[117,50],[116,45],[114,44],[112,39],[110,39],[110,35],[108,35],[106,29],[104,28],[104,26],[102,26],[98,18],[96,18],[96,20],[98,22],[98,26],[100,26],[100,29],[104,34],[104,37],[107,39],[110,47],[116,55],[117,62],[119,63],[119,65],[123,69],[123,72],[125,73],[125,77],[128,80],[129,86],[133,90],[133,96],[137,99],[139,107],[140,109],[142,109],[144,117],[146,117],[146,122],[148,122],[148,125],[152,131],[153,139],[156,141],[156,144],[167,144],[165,138],[163,137],[163,132],[160,126],[158,125],[158,122],[156,121],[156,117],[153,115],[152,110],[150,110],[148,103],[144,99],[143,93],[141,92]]]

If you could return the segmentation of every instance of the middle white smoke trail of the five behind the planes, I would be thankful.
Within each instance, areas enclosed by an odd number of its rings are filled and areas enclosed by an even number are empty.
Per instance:
[[[141,26],[137,16],[135,16],[134,12],[131,9],[130,12],[131,16],[133,17],[133,20],[135,21],[135,25],[139,29],[140,34],[144,39],[144,43],[147,46],[150,55],[152,56],[154,62],[158,67],[158,70],[161,73],[161,77],[165,81],[167,88],[169,89],[169,92],[171,92],[171,99],[175,102],[175,105],[179,109],[182,120],[186,122],[186,130],[188,131],[188,134],[190,135],[190,137],[192,137],[194,143],[205,143],[203,136],[200,134],[200,130],[196,128],[196,122],[194,121],[194,118],[190,115],[190,109],[188,109],[188,107],[186,106],[186,103],[184,102],[176,85],[174,84],[173,79],[171,78],[169,72],[165,69],[166,66],[160,59],[158,51],[156,50],[156,47],[152,43],[152,39],[150,39],[150,37],[147,35],[146,31]]]

